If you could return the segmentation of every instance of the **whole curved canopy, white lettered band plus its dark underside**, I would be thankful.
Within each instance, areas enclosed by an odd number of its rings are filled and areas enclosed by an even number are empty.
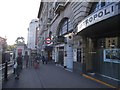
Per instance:
[[[86,37],[109,37],[120,35],[120,2],[96,11],[78,24],[77,34]]]

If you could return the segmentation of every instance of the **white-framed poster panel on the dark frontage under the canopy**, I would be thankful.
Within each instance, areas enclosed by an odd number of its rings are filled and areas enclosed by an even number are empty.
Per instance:
[[[105,49],[104,62],[120,63],[120,49]]]

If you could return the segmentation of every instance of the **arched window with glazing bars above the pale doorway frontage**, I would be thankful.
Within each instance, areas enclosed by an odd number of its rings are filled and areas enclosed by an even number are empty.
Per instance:
[[[72,32],[73,28],[72,28],[72,24],[70,19],[65,18],[62,20],[62,22],[60,23],[60,27],[59,27],[59,36],[65,35],[69,32]]]

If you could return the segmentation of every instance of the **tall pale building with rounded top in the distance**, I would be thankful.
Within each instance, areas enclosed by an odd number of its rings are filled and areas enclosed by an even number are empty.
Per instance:
[[[31,20],[28,27],[28,36],[27,36],[27,52],[28,54],[36,54],[38,46],[38,20]],[[24,46],[24,45],[23,45]]]

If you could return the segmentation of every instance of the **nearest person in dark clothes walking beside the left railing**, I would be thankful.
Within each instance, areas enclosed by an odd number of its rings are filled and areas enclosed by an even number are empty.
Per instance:
[[[19,75],[20,75],[20,72],[21,72],[21,67],[22,67],[22,55],[21,53],[18,53],[18,57],[16,59],[16,69],[15,69],[15,74],[16,74],[16,77],[15,79],[19,79]]]

